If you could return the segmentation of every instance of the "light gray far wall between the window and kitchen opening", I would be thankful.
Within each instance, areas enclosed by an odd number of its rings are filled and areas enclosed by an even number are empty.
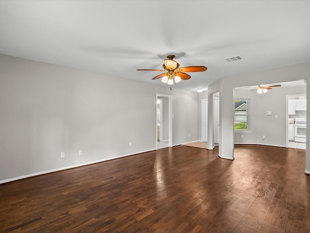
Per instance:
[[[286,146],[286,96],[306,94],[305,86],[273,88],[267,93],[254,91],[235,91],[235,99],[250,99],[250,131],[251,133],[234,133],[235,143],[265,144]],[[266,116],[266,111],[272,111]],[[278,115],[278,118],[275,117]],[[243,135],[243,138],[241,138]],[[263,140],[263,135],[265,139]]]

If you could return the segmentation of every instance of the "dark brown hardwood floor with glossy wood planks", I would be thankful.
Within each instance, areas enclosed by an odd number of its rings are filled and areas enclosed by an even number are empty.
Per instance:
[[[0,185],[0,232],[309,233],[305,150],[177,146]]]

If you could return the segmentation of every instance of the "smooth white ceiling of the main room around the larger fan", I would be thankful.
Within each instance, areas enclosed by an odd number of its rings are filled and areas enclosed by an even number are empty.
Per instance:
[[[309,62],[310,1],[1,0],[0,53],[156,84],[160,72],[136,69],[161,69],[172,53],[180,67],[208,67],[173,85],[194,91]]]

